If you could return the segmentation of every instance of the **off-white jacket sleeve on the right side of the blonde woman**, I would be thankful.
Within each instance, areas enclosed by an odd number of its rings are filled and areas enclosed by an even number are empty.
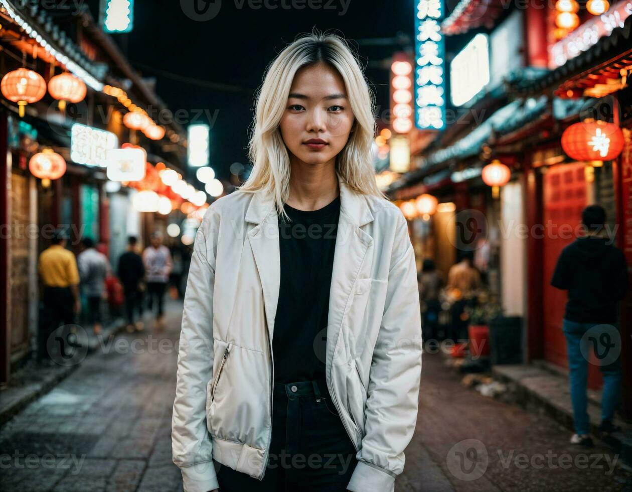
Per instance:
[[[347,488],[392,492],[415,431],[422,371],[422,330],[415,253],[398,216],[386,303],[368,382],[361,457]]]

